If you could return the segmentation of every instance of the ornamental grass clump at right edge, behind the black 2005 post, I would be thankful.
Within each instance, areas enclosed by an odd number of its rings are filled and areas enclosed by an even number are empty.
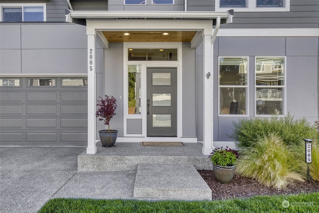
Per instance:
[[[289,146],[291,152],[296,158],[296,172],[299,172],[305,180],[308,179],[307,163],[305,159],[305,142],[301,141],[297,144]],[[319,181],[319,142],[312,142],[312,163],[310,164],[310,176],[313,180]]]

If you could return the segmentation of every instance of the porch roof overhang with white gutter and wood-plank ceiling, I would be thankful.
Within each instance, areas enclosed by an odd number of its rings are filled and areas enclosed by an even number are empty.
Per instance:
[[[202,31],[231,23],[233,11],[78,11],[69,10],[72,22],[94,23],[103,48],[112,42],[190,42],[196,48]],[[103,21],[104,20],[104,21]],[[104,22],[104,23],[102,23]],[[105,24],[107,23],[107,24]],[[204,24],[205,23],[205,24]],[[207,27],[207,23],[209,27]],[[169,32],[163,36],[163,32]],[[129,32],[130,36],[123,33]],[[207,32],[206,32],[207,33]]]

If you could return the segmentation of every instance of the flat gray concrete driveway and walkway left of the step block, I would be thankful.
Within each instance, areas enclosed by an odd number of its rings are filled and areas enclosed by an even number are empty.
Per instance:
[[[0,212],[36,213],[52,198],[136,199],[138,170],[78,172],[85,150],[0,147]]]

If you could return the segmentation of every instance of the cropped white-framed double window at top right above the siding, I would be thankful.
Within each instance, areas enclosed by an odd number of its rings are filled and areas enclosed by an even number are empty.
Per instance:
[[[215,0],[215,11],[290,11],[290,0]]]

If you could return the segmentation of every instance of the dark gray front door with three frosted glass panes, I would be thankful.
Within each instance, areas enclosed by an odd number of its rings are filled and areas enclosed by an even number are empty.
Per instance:
[[[147,135],[177,137],[176,68],[147,68]]]

